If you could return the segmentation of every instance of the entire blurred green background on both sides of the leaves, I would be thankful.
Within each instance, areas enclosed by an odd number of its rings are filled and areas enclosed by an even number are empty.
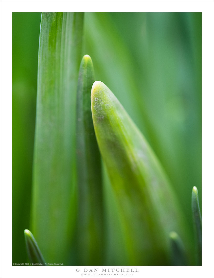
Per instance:
[[[41,13],[12,15],[13,262],[27,260]],[[165,168],[192,229],[202,199],[202,14],[85,13],[83,51]]]

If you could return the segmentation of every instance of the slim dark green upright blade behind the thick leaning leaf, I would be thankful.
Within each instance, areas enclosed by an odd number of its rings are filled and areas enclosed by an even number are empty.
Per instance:
[[[103,265],[103,205],[100,152],[91,115],[91,57],[80,64],[77,86],[78,253],[81,265]]]

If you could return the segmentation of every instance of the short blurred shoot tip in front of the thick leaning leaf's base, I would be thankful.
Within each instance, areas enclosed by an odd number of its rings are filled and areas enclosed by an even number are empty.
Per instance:
[[[172,265],[187,265],[185,248],[182,240],[176,232],[170,232],[171,262]]]

